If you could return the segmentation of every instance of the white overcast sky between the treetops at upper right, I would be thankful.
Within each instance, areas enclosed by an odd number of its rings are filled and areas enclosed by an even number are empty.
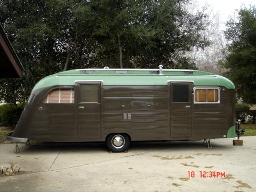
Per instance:
[[[199,5],[206,3],[213,7],[215,13],[219,13],[221,24],[225,25],[228,18],[234,15],[235,10],[239,10],[242,5],[256,5],[255,0],[197,0]]]

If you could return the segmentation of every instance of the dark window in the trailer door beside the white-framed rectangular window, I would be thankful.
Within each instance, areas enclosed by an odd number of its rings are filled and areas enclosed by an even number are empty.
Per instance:
[[[172,102],[189,102],[189,85],[172,85]]]

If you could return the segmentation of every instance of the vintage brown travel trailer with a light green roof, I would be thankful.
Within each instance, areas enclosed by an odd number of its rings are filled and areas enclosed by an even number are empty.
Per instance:
[[[7,140],[131,141],[235,137],[235,86],[199,70],[77,69],[39,81]]]

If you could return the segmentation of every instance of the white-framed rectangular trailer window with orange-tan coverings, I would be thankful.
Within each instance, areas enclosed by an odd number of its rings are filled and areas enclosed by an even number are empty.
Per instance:
[[[219,87],[195,87],[194,103],[220,103]]]

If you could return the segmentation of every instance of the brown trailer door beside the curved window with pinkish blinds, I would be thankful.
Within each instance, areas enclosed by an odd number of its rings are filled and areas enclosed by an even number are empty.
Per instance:
[[[77,82],[78,139],[101,138],[101,82]]]

